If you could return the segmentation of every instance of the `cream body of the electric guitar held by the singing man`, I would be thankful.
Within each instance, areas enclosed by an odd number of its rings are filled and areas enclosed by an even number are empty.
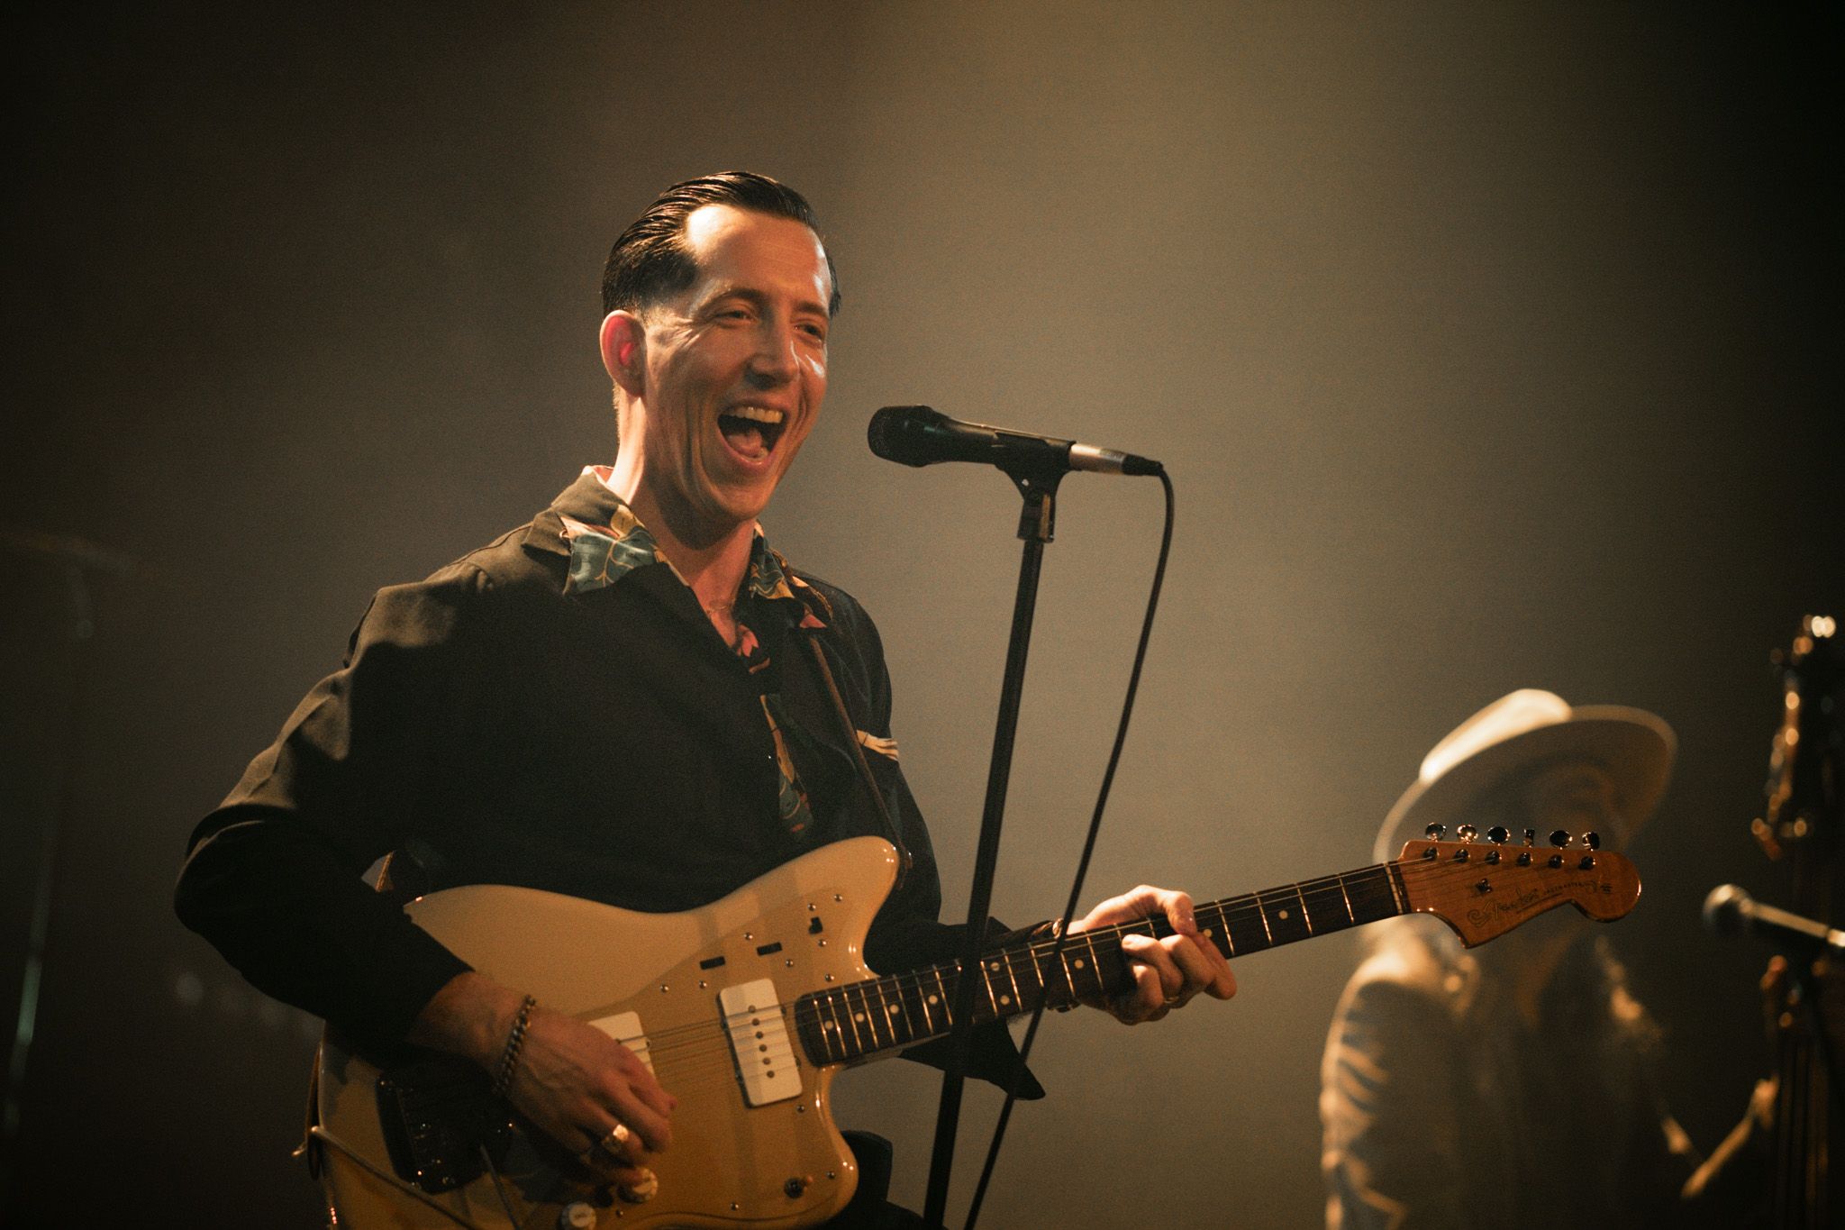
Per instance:
[[[507,1136],[498,1171],[430,1193],[399,1177],[380,1106],[384,1073],[338,1047],[321,1047],[319,1140],[323,1180],[341,1224],[542,1226],[568,1208],[585,1226],[808,1226],[852,1199],[858,1169],[827,1112],[836,1066],[799,1060],[782,1011],[808,990],[873,977],[860,944],[897,874],[889,845],[856,837],[821,846],[690,913],[642,915],[574,896],[470,885],[410,905],[421,928],[482,974],[520,987],[548,1009],[607,1022],[679,1099],[673,1147],[651,1158],[659,1195],[629,1204],[596,1188],[561,1151]],[[734,1042],[720,1003],[727,988],[769,981],[780,1005],[756,1003],[780,1027],[775,1055],[762,1031]],[[740,1018],[740,1023],[747,1020]],[[762,1064],[762,1059],[771,1064]],[[747,1066],[773,1071],[755,1082]],[[483,1095],[482,1084],[476,1094]],[[773,1097],[775,1101],[766,1101]],[[485,1103],[491,1106],[491,1103]],[[415,1112],[413,1112],[415,1114]],[[395,1127],[395,1125],[393,1125]],[[397,1149],[402,1162],[404,1149]],[[446,1162],[446,1158],[441,1158]],[[472,1158],[463,1171],[476,1169]],[[369,1164],[369,1165],[367,1165]],[[574,1171],[574,1173],[572,1173]],[[572,1208],[577,1206],[577,1208]]]

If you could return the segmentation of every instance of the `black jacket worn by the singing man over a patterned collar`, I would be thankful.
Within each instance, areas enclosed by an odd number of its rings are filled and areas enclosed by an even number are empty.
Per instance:
[[[563,516],[607,524],[592,476],[550,509],[417,585],[378,592],[345,668],[194,832],[179,917],[258,988],[360,1042],[404,1038],[467,964],[362,874],[410,852],[421,887],[511,883],[640,911],[703,905],[825,841],[884,835],[804,633],[769,627],[788,714],[812,736],[814,824],[777,821],[779,775],[756,680],[661,566],[565,594]],[[843,590],[819,642],[858,730],[889,736],[876,627]],[[780,605],[780,603],[777,603]],[[784,644],[777,645],[773,638]],[[867,961],[956,955],[937,922],[928,832],[895,760],[867,754],[915,865]],[[972,1075],[1017,1064],[989,1027]],[[926,1055],[919,1055],[926,1059]],[[1028,1092],[1037,1095],[1028,1077]]]

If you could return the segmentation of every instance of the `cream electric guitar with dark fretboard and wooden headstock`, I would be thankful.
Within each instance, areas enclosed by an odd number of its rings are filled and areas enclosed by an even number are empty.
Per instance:
[[[1565,902],[1603,922],[1633,909],[1633,863],[1592,835],[1552,841],[1411,841],[1393,863],[1197,905],[1197,926],[1242,957],[1410,913],[1435,915],[1470,948]],[[480,1070],[437,1055],[380,1070],[328,1035],[310,1140],[336,1224],[768,1230],[836,1215],[858,1171],[828,1112],[834,1073],[950,1027],[959,963],[884,977],[863,964],[895,874],[886,841],[854,837],[677,915],[502,885],[411,902],[415,922],[476,970],[633,1049],[679,1099],[673,1147],[648,1160],[655,1195],[631,1202],[524,1132]],[[976,1022],[1118,990],[1129,931],[1172,935],[1144,918],[1061,950],[1044,939],[987,953]]]

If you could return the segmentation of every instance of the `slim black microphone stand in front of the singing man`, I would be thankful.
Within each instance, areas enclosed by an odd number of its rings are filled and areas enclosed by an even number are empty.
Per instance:
[[[993,730],[993,760],[987,767],[987,802],[980,817],[980,846],[974,854],[974,881],[967,900],[967,942],[961,950],[961,972],[954,981],[954,1001],[948,1012],[948,1062],[943,1066],[941,1105],[935,1110],[935,1149],[930,1158],[928,1197],[922,1206],[922,1219],[935,1228],[946,1224],[943,1219],[948,1204],[948,1173],[954,1169],[954,1138],[961,1123],[961,1088],[967,1082],[967,1060],[974,1038],[974,970],[980,968],[980,953],[987,939],[993,876],[1000,861],[1000,826],[1006,815],[1006,787],[1013,771],[1013,741],[1018,734],[1018,701],[1026,682],[1026,651],[1031,647],[1031,618],[1037,612],[1039,572],[1044,564],[1044,544],[1052,540],[1055,531],[1057,483],[1065,476],[1065,467],[1057,463],[1018,461],[1000,468],[1024,496],[1024,505],[1018,511],[1024,557],[1018,564],[1013,633],[1006,647],[1000,716]]]

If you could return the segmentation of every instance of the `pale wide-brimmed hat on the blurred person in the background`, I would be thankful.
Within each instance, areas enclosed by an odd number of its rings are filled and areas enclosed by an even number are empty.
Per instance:
[[[1478,822],[1470,810],[1489,789],[1553,760],[1590,760],[1607,769],[1631,835],[1666,793],[1677,745],[1672,727],[1646,710],[1572,708],[1553,692],[1522,688],[1463,721],[1422,758],[1422,771],[1378,830],[1376,861],[1397,857],[1402,843],[1430,824]]]

